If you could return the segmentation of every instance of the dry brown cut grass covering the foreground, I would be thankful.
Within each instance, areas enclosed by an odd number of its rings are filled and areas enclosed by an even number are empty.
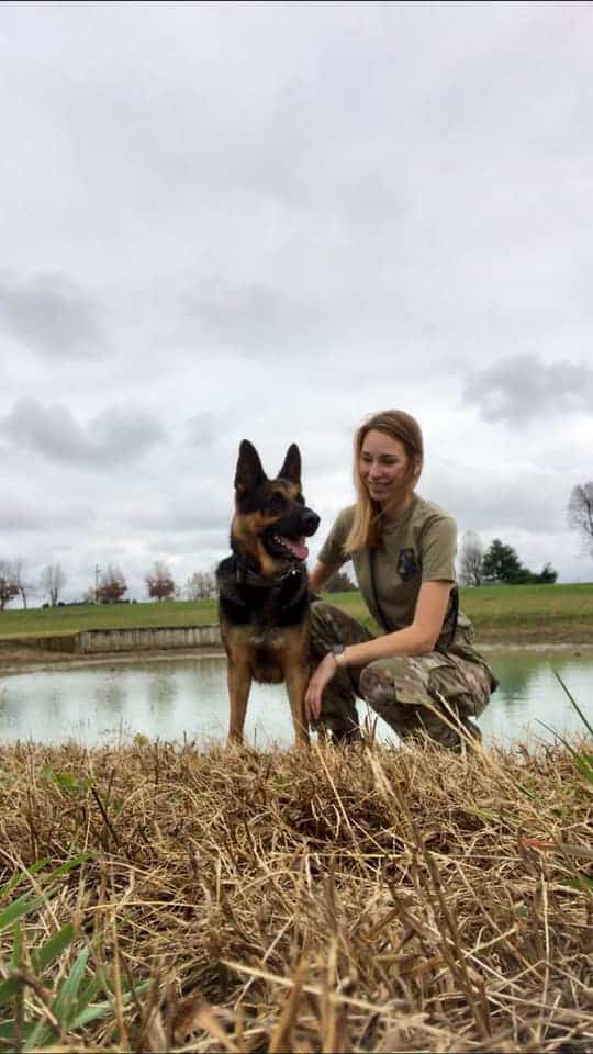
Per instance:
[[[59,1050],[591,1051],[590,820],[563,748],[0,749],[0,885],[94,854],[18,890],[27,948],[74,919],[55,972],[112,978]]]

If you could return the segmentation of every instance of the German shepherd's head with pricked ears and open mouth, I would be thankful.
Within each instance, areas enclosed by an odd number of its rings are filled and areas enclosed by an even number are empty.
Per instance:
[[[262,574],[273,574],[278,560],[306,560],[304,540],[315,534],[320,517],[306,507],[301,493],[296,444],[289,447],[276,479],[269,480],[256,448],[244,439],[235,472],[235,500],[232,540],[257,561]]]

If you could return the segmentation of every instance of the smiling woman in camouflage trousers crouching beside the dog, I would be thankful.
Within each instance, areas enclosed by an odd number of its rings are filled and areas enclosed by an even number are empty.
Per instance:
[[[480,738],[471,720],[496,686],[458,610],[456,524],[415,492],[424,447],[403,411],[369,417],[355,436],[355,505],[342,511],[311,574],[311,590],[351,559],[367,607],[383,628],[373,637],[337,607],[312,605],[312,659],[305,708],[334,741],[360,738],[359,696],[402,739],[425,733],[460,749]],[[321,661],[320,661],[321,660]]]

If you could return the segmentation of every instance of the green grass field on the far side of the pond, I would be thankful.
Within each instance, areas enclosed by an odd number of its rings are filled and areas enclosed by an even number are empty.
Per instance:
[[[358,593],[336,593],[326,598],[372,627]],[[479,640],[593,643],[593,583],[466,588],[461,590],[461,607],[472,619]],[[88,604],[29,612],[7,608],[0,614],[0,638],[82,629],[203,626],[215,621],[215,601]]]

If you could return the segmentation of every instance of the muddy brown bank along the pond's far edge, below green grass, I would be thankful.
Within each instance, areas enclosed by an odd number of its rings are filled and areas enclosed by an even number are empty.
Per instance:
[[[593,654],[590,641],[477,641],[477,650],[485,654],[497,651],[535,652],[558,654],[573,652],[577,655]],[[224,659],[221,647],[135,649],[131,651],[105,651],[94,654],[68,655],[59,652],[35,652],[25,648],[0,650],[0,681],[20,673],[43,673],[51,670],[77,670],[85,666],[124,665],[136,662],[175,662],[177,659]]]

